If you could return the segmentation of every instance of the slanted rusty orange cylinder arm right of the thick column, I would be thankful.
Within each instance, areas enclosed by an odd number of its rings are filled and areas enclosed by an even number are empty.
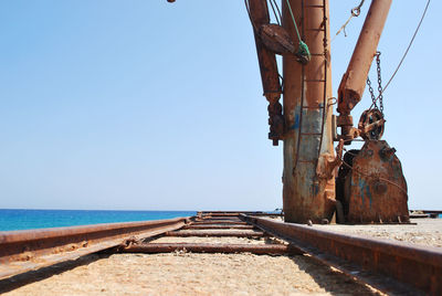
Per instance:
[[[346,140],[351,140],[351,109],[359,103],[366,88],[368,72],[376,55],[380,35],[392,0],[372,0],[350,63],[338,89],[338,126]]]

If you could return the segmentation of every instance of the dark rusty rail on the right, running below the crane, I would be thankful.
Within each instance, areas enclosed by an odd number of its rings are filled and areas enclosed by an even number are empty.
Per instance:
[[[339,234],[262,218],[243,215],[243,219],[383,292],[412,295],[418,289],[442,295],[442,250],[439,247]]]

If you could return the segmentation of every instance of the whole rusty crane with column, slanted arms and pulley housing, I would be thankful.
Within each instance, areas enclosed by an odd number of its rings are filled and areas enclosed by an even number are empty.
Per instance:
[[[373,101],[375,108],[361,115],[357,127],[350,115],[362,97],[391,0],[371,1],[339,85],[339,116],[333,115],[328,0],[283,0],[281,25],[270,23],[266,0],[245,3],[264,96],[270,102],[269,138],[274,145],[284,142],[285,221],[320,223],[332,221],[336,213],[341,223],[407,223],[408,194],[401,165],[396,150],[380,141],[386,123],[382,108],[379,110]],[[351,13],[359,14],[361,4]],[[308,45],[308,57],[299,56],[296,42],[299,50]],[[276,54],[283,60],[284,87]],[[283,107],[278,103],[281,94]],[[346,155],[343,159],[344,145],[357,137],[366,145],[360,151],[352,150],[357,156]],[[338,142],[336,154],[334,140]]]

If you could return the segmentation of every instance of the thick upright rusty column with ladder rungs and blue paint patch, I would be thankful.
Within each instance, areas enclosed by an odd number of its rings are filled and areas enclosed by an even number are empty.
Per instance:
[[[317,170],[318,158],[334,156],[328,0],[290,0],[290,3],[312,60],[303,66],[293,55],[283,57],[287,127],[284,137],[283,210],[287,222],[305,223],[312,220],[315,223],[332,219],[335,210],[335,180],[329,173],[325,177],[327,173],[323,173],[322,169]],[[283,27],[297,43],[286,0],[282,4]]]

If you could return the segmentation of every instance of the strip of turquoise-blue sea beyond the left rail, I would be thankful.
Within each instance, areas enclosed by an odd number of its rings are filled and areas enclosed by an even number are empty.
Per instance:
[[[0,231],[160,220],[196,214],[196,211],[83,211],[0,209]]]

